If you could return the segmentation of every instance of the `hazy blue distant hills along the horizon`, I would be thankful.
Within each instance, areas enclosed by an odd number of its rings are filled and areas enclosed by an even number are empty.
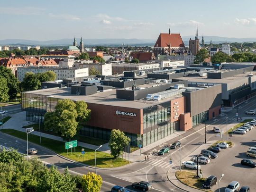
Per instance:
[[[183,42],[188,45],[189,39],[194,39],[194,36],[182,36]],[[200,41],[202,37],[200,36]],[[256,38],[233,38],[233,37],[219,37],[219,36],[204,36],[204,42],[209,43],[212,40],[212,43],[222,43],[222,42],[256,42]],[[152,39],[83,39],[85,46],[122,46],[122,43],[125,45],[132,46],[154,46],[155,40]],[[77,40],[79,44],[80,39]],[[3,45],[32,45],[32,46],[69,46],[73,45],[72,39],[59,39],[59,40],[49,40],[49,41],[33,41],[33,40],[24,40],[24,39],[5,39],[0,40],[0,46]]]

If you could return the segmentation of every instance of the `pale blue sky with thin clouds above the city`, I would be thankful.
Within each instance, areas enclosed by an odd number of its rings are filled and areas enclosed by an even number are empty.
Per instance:
[[[256,0],[3,0],[0,40],[256,37]],[[4,26],[4,27],[3,27]]]

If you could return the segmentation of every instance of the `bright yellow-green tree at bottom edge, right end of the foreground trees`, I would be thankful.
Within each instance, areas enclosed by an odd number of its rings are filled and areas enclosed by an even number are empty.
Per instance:
[[[84,192],[100,192],[102,185],[101,175],[87,173],[82,176],[82,190]]]

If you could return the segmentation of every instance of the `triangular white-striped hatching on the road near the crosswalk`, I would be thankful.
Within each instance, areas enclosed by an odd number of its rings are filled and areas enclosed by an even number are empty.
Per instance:
[[[122,175],[111,175],[111,176],[128,181],[128,182],[132,182],[132,183],[139,182],[139,181],[147,181],[146,173],[151,168],[152,166],[150,165],[132,173],[122,174]]]

